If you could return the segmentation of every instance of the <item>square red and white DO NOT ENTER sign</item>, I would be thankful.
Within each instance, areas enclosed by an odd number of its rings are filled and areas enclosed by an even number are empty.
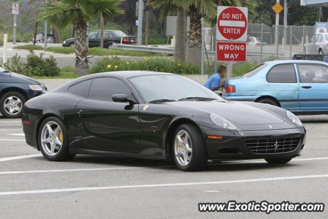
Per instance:
[[[247,19],[248,8],[219,6],[217,9],[217,40],[246,41]]]

